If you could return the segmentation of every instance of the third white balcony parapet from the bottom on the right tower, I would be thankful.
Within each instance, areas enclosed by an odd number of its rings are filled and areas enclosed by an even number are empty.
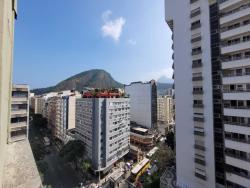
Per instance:
[[[250,142],[232,139],[232,138],[225,138],[225,147],[249,153]]]

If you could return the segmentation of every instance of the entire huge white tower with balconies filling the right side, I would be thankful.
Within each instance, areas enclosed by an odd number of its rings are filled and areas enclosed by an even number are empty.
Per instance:
[[[250,1],[165,0],[180,187],[250,186]]]

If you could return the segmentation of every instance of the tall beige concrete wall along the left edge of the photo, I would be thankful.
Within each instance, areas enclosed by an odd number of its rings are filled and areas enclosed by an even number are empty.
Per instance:
[[[15,20],[12,2],[11,0],[0,0],[0,182],[2,182],[7,128],[10,122]],[[2,183],[0,183],[0,187],[2,187]]]

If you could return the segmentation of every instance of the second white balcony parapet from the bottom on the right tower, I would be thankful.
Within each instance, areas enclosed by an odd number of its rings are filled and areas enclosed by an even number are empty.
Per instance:
[[[250,158],[226,153],[226,164],[250,171]]]

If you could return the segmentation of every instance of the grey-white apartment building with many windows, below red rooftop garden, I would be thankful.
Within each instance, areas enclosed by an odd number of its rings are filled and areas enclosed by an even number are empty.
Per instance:
[[[128,98],[76,100],[76,138],[85,143],[95,171],[107,172],[129,152]]]

